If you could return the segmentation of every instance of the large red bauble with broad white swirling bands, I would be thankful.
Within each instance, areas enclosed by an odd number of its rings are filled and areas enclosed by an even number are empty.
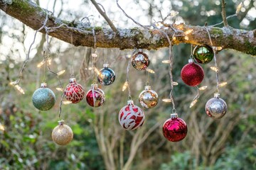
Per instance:
[[[133,101],[127,101],[127,106],[124,106],[119,111],[118,120],[122,128],[137,130],[137,128],[143,125],[145,115],[142,108],[134,105]]]

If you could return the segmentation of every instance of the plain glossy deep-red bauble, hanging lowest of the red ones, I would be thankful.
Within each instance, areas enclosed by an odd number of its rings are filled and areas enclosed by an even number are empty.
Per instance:
[[[187,125],[184,120],[178,118],[177,113],[171,114],[171,118],[166,120],[163,125],[163,134],[167,140],[178,142],[186,137],[188,132]]]

